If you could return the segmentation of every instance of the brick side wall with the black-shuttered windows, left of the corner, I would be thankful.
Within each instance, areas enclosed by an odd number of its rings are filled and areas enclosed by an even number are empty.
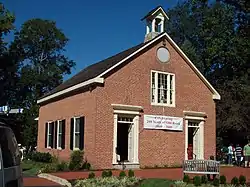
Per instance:
[[[41,106],[39,110],[38,125],[38,151],[50,152],[63,160],[67,160],[70,156],[70,119],[74,116],[85,116],[85,157],[90,163],[94,163],[95,149],[95,116],[96,101],[95,96],[89,91],[77,94],[57,102]],[[47,121],[55,121],[66,119],[65,125],[65,149],[47,149],[45,148],[45,123]]]

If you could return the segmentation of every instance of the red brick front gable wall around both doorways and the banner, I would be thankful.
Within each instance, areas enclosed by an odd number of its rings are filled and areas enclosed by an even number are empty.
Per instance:
[[[111,167],[113,140],[113,109],[111,104],[142,106],[140,117],[139,161],[141,166],[181,164],[184,159],[184,132],[143,129],[143,114],[183,117],[183,111],[205,112],[205,158],[215,153],[215,103],[212,94],[179,54],[167,44],[169,64],[156,59],[156,49],[134,59],[105,79],[105,87],[97,93],[97,158],[98,167]],[[176,107],[152,106],[150,103],[150,71],[175,73]],[[98,141],[100,140],[100,141]],[[108,145],[108,146],[107,146]]]

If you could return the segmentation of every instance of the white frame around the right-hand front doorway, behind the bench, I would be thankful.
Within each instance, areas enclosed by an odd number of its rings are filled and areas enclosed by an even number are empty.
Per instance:
[[[198,150],[199,155],[196,159],[204,159],[204,124],[206,114],[203,112],[193,112],[193,111],[184,111],[185,115],[185,160],[188,159],[187,148],[188,148],[188,122],[189,121],[198,121],[198,134],[197,138],[199,139]]]

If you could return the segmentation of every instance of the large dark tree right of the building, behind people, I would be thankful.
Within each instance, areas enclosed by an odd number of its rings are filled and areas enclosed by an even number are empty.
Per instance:
[[[187,0],[168,15],[167,32],[222,96],[218,135],[243,139],[243,132],[250,133],[248,1]]]

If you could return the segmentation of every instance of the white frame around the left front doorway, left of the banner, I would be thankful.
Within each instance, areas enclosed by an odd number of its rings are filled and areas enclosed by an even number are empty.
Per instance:
[[[118,164],[117,162],[117,154],[116,154],[116,147],[117,147],[117,122],[119,115],[129,115],[133,118],[133,125],[131,129],[131,141],[129,142],[132,146],[132,152],[128,147],[128,158],[130,160],[129,163],[132,164],[139,164],[139,156],[138,156],[138,148],[139,148],[139,116],[142,107],[140,106],[133,106],[133,105],[120,105],[120,104],[112,104],[113,106],[113,116],[114,116],[114,134],[113,134],[113,165]]]

